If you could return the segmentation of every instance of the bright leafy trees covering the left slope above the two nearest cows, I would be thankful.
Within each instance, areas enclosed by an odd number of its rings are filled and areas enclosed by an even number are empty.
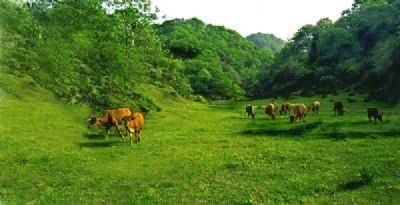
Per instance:
[[[103,3],[103,4],[102,4]],[[191,87],[154,34],[150,1],[0,2],[2,67],[31,75],[71,103],[159,109],[135,87]],[[110,12],[113,10],[113,12]]]

